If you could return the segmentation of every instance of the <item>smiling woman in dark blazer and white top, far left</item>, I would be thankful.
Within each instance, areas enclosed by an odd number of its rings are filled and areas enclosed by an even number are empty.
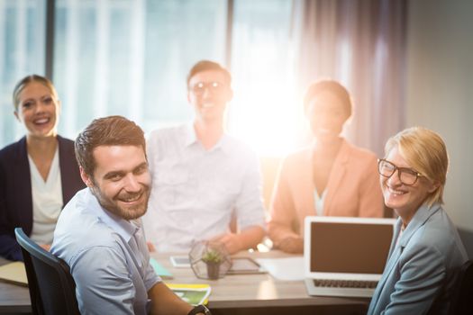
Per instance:
[[[44,76],[14,87],[14,116],[26,136],[0,150],[0,256],[22,260],[14,228],[48,249],[62,207],[85,187],[74,142],[58,135],[60,102]]]

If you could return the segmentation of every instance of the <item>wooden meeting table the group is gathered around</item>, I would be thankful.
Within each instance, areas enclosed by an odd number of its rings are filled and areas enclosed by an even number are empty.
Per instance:
[[[242,252],[238,257],[274,258],[291,257],[279,251],[268,253]],[[311,297],[305,291],[302,281],[278,281],[268,274],[226,275],[219,280],[196,278],[190,268],[174,268],[166,254],[151,253],[165,266],[175,284],[210,284],[212,293],[209,308],[218,314],[363,314],[368,299]],[[0,265],[7,261],[0,258]],[[264,309],[263,309],[264,308]],[[0,282],[0,313],[31,313],[28,288]]]

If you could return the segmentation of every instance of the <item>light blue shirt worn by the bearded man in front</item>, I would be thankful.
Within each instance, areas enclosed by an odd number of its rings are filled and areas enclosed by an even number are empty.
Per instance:
[[[89,188],[61,212],[51,253],[70,267],[81,314],[147,314],[160,281],[150,266],[141,222],[104,210]]]

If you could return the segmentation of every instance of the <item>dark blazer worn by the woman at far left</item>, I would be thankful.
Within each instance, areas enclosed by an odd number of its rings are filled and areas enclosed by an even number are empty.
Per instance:
[[[58,136],[59,169],[64,205],[86,187],[80,178],[74,141]],[[0,150],[0,256],[23,260],[14,228],[32,233],[32,179],[26,137]]]

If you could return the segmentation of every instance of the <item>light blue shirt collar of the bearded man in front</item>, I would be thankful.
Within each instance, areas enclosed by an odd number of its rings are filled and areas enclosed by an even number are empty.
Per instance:
[[[100,203],[98,203],[96,196],[92,193],[90,188],[87,188],[87,190],[89,209],[95,212],[99,220],[102,220],[106,226],[113,229],[128,242],[137,229],[140,229],[140,223],[138,221],[124,220],[118,215],[105,210]]]

